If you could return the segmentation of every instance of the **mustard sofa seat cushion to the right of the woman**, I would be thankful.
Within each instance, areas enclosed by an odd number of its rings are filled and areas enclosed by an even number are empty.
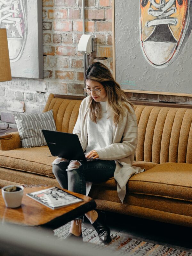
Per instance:
[[[192,165],[158,164],[148,171],[133,175],[128,192],[192,201]]]

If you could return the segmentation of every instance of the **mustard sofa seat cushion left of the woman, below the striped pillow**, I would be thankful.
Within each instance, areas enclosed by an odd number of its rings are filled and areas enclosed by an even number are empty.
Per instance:
[[[47,146],[0,150],[0,166],[48,177],[54,177],[51,163],[55,158]]]

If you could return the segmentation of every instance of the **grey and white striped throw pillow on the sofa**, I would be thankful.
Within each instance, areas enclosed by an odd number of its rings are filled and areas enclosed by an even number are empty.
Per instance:
[[[22,148],[47,145],[42,129],[57,131],[53,111],[41,114],[13,114],[21,138]]]

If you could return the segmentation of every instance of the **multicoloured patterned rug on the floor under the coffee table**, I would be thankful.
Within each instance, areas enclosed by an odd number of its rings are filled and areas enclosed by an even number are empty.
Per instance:
[[[69,232],[70,223],[54,230],[54,235],[62,240]],[[191,252],[181,251],[174,248],[169,248],[159,244],[132,239],[127,235],[118,236],[111,234],[111,243],[103,245],[99,240],[97,232],[90,228],[82,228],[83,241],[95,245],[108,247],[108,249],[117,252],[117,254],[127,256],[192,256]]]

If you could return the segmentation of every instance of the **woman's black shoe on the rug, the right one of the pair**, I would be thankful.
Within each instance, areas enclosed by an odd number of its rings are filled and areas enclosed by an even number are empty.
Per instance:
[[[102,216],[103,215],[103,216]],[[100,240],[104,244],[111,242],[110,238],[110,228],[105,224],[105,214],[104,212],[98,212],[98,218],[92,223],[92,226],[98,233]]]

